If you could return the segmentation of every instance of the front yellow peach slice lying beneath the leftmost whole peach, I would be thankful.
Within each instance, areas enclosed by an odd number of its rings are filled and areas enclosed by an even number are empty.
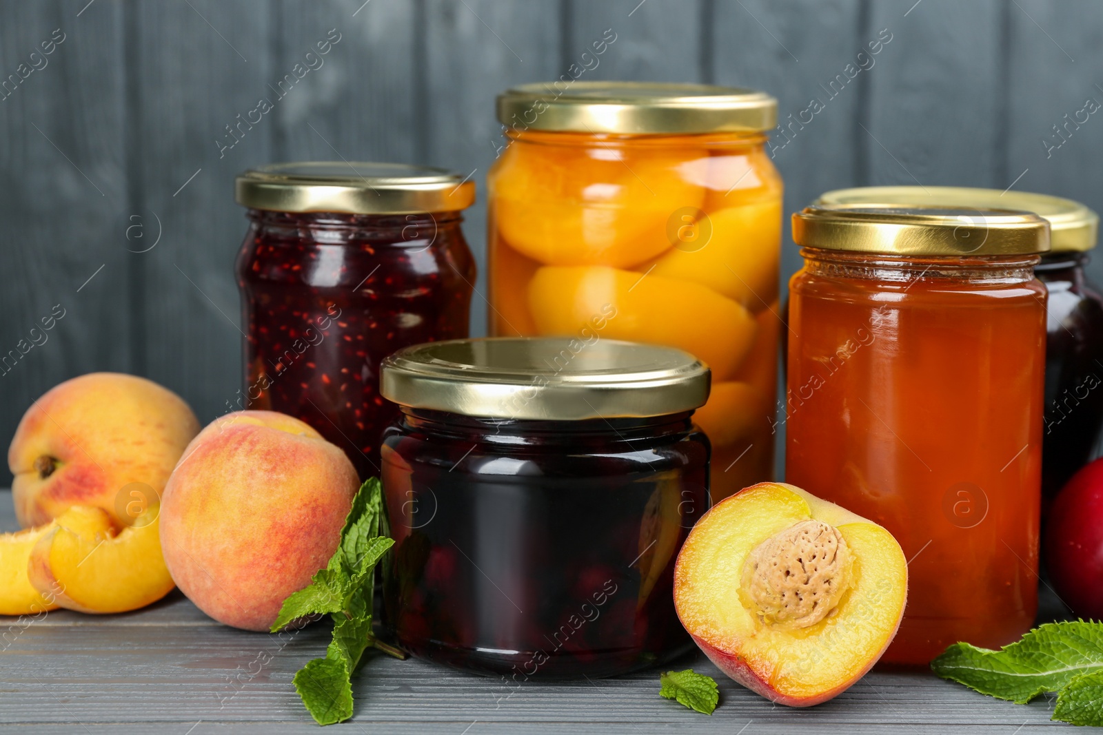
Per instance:
[[[31,584],[81,613],[126,613],[157,602],[175,586],[161,556],[159,510],[150,505],[118,536],[110,526],[95,533],[66,527],[63,517],[31,550]]]

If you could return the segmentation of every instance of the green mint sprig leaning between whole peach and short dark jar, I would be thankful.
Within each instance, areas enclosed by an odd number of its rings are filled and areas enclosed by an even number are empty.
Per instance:
[[[368,647],[395,656],[406,655],[372,635],[372,596],[375,565],[394,544],[383,534],[383,488],[374,477],[353,498],[341,531],[341,545],[311,583],[283,601],[271,631],[309,615],[333,617],[333,640],[325,658],[313,659],[295,674],[295,689],[319,725],[352,716],[352,674]]]

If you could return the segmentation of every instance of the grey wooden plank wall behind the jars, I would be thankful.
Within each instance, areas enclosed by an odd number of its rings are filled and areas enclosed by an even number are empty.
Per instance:
[[[226,126],[331,29],[324,64],[228,147]],[[344,158],[449,166],[482,187],[494,95],[559,76],[606,29],[617,41],[587,78],[774,94],[790,210],[826,188],[917,181],[1103,208],[1103,121],[1052,138],[1103,100],[1092,0],[3,2],[0,79],[33,71],[0,98],[0,356],[41,344],[0,368],[0,445],[35,397],[90,370],[146,375],[203,421],[225,412],[242,338],[233,176]],[[789,126],[813,99],[812,121]],[[465,228],[480,266],[484,216],[481,201]],[[785,278],[799,260],[788,247]],[[1103,282],[1103,261],[1090,272]],[[64,317],[32,335],[55,305]],[[475,296],[474,334],[484,320]]]

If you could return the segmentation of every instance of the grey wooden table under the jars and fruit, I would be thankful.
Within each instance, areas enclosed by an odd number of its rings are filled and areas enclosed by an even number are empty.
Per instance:
[[[14,530],[0,491],[0,531]],[[0,729],[76,733],[310,733],[291,678],[322,655],[329,628],[283,640],[227,628],[179,592],[126,615],[56,610],[39,620],[0,617]],[[1050,722],[1045,699],[1016,705],[927,673],[874,671],[835,700],[806,710],[742,689],[703,656],[720,705],[706,716],[658,696],[658,671],[571,683],[506,685],[418,660],[375,656],[353,680],[350,733],[1026,733]],[[1072,732],[1072,731],[1070,731]]]

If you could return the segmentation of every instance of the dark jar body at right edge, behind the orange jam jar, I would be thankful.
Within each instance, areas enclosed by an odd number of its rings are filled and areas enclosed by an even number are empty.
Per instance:
[[[1083,252],[1053,252],[1035,268],[1049,290],[1046,322],[1045,502],[1092,456],[1103,428],[1103,299],[1084,280]]]

